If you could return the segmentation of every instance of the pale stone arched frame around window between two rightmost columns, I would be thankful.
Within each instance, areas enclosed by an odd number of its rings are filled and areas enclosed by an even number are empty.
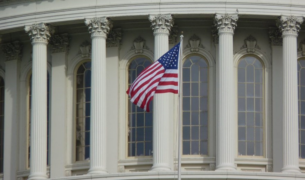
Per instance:
[[[238,102],[237,102],[237,99],[238,99],[238,93],[237,93],[237,78],[238,78],[238,73],[237,73],[237,70],[238,70],[238,64],[239,64],[239,61],[240,59],[242,59],[243,57],[246,57],[246,56],[254,56],[256,57],[257,59],[260,60],[260,62],[263,64],[263,67],[264,67],[264,87],[263,87],[263,91],[264,91],[264,155],[263,157],[261,156],[239,156],[238,155],[238,113],[237,113],[237,110],[238,110]],[[235,119],[235,123],[236,123],[236,134],[235,134],[235,139],[236,139],[236,143],[235,143],[235,155],[236,155],[236,159],[235,159],[235,162],[237,164],[244,164],[244,163],[247,163],[247,161],[253,161],[252,159],[253,158],[256,158],[257,160],[256,161],[261,161],[261,164],[266,164],[266,160],[264,159],[272,159],[272,144],[271,144],[271,135],[272,135],[272,129],[271,129],[271,62],[270,62],[270,59],[259,49],[255,49],[255,52],[253,53],[248,53],[247,52],[247,49],[242,49],[240,51],[238,51],[234,57],[233,57],[233,64],[234,64],[234,79],[232,80],[233,84],[235,84],[234,86],[234,92],[235,92],[235,113],[234,113],[234,119]],[[261,160],[259,160],[261,159]],[[266,164],[267,165],[267,164]]]

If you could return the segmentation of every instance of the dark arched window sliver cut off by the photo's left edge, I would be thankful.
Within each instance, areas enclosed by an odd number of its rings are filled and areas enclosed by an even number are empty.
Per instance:
[[[3,173],[4,150],[4,80],[0,77],[0,173]]]

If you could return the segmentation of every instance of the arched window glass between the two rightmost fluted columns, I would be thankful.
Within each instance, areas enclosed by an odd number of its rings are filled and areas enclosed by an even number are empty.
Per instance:
[[[264,66],[254,56],[238,63],[238,155],[264,156]]]

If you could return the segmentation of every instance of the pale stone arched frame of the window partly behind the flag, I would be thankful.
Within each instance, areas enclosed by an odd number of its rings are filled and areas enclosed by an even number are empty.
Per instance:
[[[128,157],[127,154],[127,129],[128,129],[128,95],[126,90],[128,89],[128,67],[130,62],[137,57],[145,57],[150,59],[152,63],[154,62],[154,55],[149,50],[143,49],[142,53],[135,53],[135,50],[128,52],[122,60],[120,60],[120,93],[119,93],[119,161],[118,165],[121,163],[128,162],[129,165],[137,165],[138,159],[143,161],[143,165],[152,164],[152,156],[132,156]],[[150,107],[152,108],[152,107]],[[122,148],[124,147],[124,148]]]

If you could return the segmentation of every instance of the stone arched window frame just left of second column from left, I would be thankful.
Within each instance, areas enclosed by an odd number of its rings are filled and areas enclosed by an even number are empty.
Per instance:
[[[76,82],[75,75],[77,68],[86,61],[91,61],[91,54],[88,57],[83,57],[82,54],[74,57],[69,65],[67,70],[67,146],[66,146],[66,163],[72,164],[71,167],[74,167],[73,164],[77,163],[77,169],[88,169],[89,161],[76,161]],[[72,153],[71,153],[72,152]],[[70,166],[69,166],[70,167]]]

